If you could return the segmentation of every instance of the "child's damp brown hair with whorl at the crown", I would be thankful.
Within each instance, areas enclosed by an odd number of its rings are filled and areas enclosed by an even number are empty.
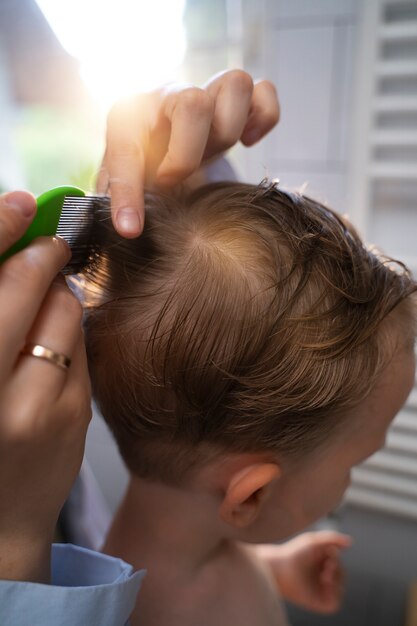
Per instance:
[[[146,200],[143,235],[104,228],[87,277],[93,390],[133,473],[180,484],[224,452],[301,456],[369,394],[393,322],[414,338],[406,268],[318,202],[265,182]]]

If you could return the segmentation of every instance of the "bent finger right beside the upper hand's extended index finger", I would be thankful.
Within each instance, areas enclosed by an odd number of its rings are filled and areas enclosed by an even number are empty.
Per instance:
[[[172,89],[163,101],[163,115],[171,124],[167,153],[157,171],[160,185],[174,185],[200,165],[210,133],[214,102],[196,87]]]

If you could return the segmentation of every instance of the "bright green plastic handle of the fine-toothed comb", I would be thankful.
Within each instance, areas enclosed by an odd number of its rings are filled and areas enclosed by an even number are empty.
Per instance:
[[[0,263],[3,263],[16,252],[23,250],[36,237],[52,237],[56,234],[65,196],[84,197],[85,193],[78,187],[55,187],[43,193],[36,200],[37,211],[35,219],[23,235],[11,248],[0,255]]]

